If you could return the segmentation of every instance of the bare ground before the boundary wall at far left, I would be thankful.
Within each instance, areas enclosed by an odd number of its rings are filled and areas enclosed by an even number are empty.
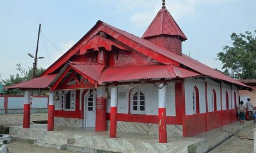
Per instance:
[[[30,116],[31,121],[44,121],[47,120],[47,113],[34,113]],[[23,125],[23,114],[1,114],[0,125],[3,127]]]

